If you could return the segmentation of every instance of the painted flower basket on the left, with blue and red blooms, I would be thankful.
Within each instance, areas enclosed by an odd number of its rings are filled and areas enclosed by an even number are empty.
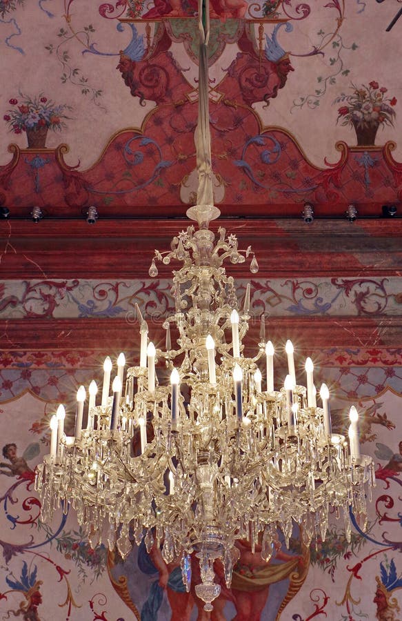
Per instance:
[[[43,97],[43,93],[32,98],[20,93],[19,99],[10,99],[9,103],[14,107],[7,110],[3,119],[14,134],[26,132],[28,148],[31,149],[46,148],[48,131],[59,132],[66,127],[63,119],[69,119],[66,111],[72,110],[66,104],[57,106],[51,99]]]

